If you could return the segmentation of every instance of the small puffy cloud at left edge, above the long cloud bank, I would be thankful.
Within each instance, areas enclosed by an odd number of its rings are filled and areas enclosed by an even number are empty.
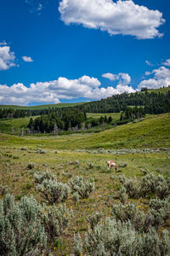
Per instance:
[[[6,43],[2,43],[5,45]],[[14,63],[14,52],[10,51],[9,46],[0,46],[0,70],[7,70],[10,67],[16,66]]]

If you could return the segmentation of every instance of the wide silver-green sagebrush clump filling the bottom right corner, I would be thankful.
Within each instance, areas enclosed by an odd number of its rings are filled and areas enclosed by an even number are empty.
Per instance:
[[[78,242],[81,243],[80,238]],[[83,241],[84,251],[91,256],[165,256],[170,253],[169,244],[167,232],[161,239],[154,229],[139,233],[129,221],[122,223],[114,218],[106,218],[94,230],[88,229]]]

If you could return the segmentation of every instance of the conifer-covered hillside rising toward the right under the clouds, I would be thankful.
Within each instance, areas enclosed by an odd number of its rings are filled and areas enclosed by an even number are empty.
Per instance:
[[[97,102],[88,102],[77,108],[86,113],[118,113],[125,111],[127,106],[143,106],[145,113],[170,112],[170,90],[166,93],[148,90],[140,93],[123,93]]]

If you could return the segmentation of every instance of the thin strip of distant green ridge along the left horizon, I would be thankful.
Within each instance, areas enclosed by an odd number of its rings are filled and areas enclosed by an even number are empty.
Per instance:
[[[68,107],[75,107],[77,105],[82,105],[82,104],[84,104],[84,102],[47,104],[47,105],[38,105],[38,106],[33,106],[33,107],[17,106],[17,105],[0,105],[0,108],[36,110],[36,109],[48,109],[48,108],[68,108]]]

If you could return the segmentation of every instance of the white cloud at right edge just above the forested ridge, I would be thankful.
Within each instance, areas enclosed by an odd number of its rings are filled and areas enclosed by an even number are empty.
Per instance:
[[[167,67],[159,67],[154,69],[152,72],[146,72],[147,75],[153,75],[151,79],[144,79],[139,84],[139,89],[148,88],[148,89],[158,89],[161,87],[168,87],[170,85],[170,69]]]

